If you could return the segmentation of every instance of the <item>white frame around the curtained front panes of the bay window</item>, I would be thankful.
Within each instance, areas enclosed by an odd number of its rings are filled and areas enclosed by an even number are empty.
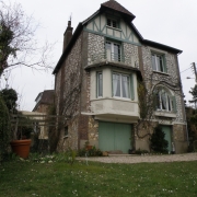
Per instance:
[[[115,95],[115,83],[114,83],[114,76],[119,76],[119,91],[120,91],[120,95],[117,96]],[[123,96],[123,77],[127,77],[128,81],[127,81],[127,94],[128,96]],[[113,97],[118,97],[118,99],[124,99],[124,100],[130,100],[131,99],[131,90],[130,90],[130,76],[129,74],[125,74],[125,73],[120,73],[120,72],[113,72],[112,73],[112,86],[113,86]],[[117,86],[117,85],[116,85]]]

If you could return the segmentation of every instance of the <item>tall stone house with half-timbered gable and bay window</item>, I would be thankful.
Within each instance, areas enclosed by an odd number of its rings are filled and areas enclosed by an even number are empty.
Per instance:
[[[157,90],[152,128],[162,127],[169,151],[187,150],[177,60],[182,50],[144,39],[132,24],[135,18],[109,0],[73,34],[68,22],[62,55],[53,72],[57,115],[70,117],[58,128],[59,150],[80,149],[85,141],[102,151],[150,150],[150,129],[136,127],[142,111],[140,81],[148,92]]]

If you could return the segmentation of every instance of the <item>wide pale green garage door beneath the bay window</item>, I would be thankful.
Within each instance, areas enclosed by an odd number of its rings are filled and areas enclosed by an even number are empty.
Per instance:
[[[99,147],[102,151],[120,150],[128,153],[130,149],[131,125],[100,121]]]

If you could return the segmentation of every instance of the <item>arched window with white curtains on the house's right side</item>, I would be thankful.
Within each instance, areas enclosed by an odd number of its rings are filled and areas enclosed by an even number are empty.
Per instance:
[[[175,112],[175,96],[173,96],[169,91],[166,91],[166,89],[158,88],[155,90],[155,107],[157,111]]]

